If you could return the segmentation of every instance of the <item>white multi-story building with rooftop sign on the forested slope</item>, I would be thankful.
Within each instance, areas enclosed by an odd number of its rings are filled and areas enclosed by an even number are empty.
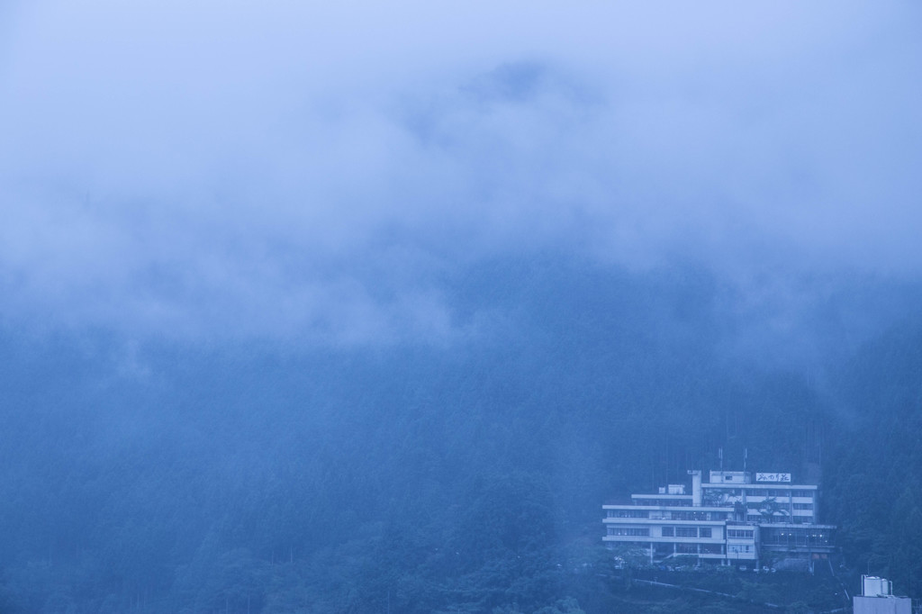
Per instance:
[[[686,484],[631,502],[603,505],[611,547],[642,552],[650,562],[691,556],[697,561],[759,565],[773,559],[824,559],[833,550],[833,525],[817,522],[818,487],[792,484],[789,473],[689,471]]]

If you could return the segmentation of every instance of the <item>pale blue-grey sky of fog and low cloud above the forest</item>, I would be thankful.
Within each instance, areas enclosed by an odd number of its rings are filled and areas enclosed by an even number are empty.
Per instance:
[[[922,273],[922,6],[0,9],[0,320],[445,337],[437,281]]]

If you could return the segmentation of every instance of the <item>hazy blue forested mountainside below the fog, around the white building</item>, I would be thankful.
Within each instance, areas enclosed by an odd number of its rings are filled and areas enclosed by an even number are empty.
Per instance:
[[[607,612],[601,504],[719,447],[819,462],[848,573],[922,594],[916,287],[810,279],[792,310],[561,258],[444,285],[467,333],[434,344],[7,327],[0,611]]]

